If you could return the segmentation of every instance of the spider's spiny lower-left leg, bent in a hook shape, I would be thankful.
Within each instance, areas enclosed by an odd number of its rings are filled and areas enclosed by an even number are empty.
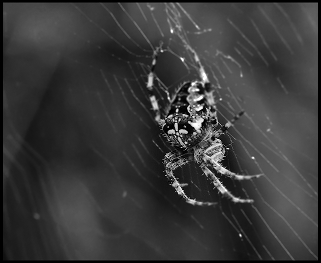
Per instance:
[[[214,202],[202,202],[197,201],[196,199],[192,199],[186,195],[183,188],[187,184],[181,184],[173,174],[173,171],[181,167],[191,161],[193,161],[194,156],[192,153],[184,153],[181,149],[174,150],[165,156],[165,168],[166,168],[166,177],[169,179],[171,185],[175,188],[178,195],[185,199],[185,201],[192,205],[200,205],[200,206],[210,206],[216,205],[217,203]]]

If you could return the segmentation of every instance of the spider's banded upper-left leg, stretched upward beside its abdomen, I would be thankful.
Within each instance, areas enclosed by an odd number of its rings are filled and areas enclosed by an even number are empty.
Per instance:
[[[151,107],[155,113],[154,119],[158,124],[161,124],[162,121],[161,121],[161,111],[159,110],[159,105],[154,94],[154,76],[155,76],[154,71],[155,71],[158,53],[161,52],[161,50],[162,50],[162,45],[157,47],[156,50],[154,50],[151,66],[150,66],[150,72],[148,74],[148,79],[147,79],[147,86],[146,86],[148,90],[148,96],[151,103]]]

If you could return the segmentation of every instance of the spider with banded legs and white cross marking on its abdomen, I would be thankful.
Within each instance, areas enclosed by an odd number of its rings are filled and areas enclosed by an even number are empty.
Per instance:
[[[218,137],[233,126],[233,123],[241,117],[244,111],[236,114],[231,121],[228,121],[220,129],[216,129],[218,119],[213,95],[214,90],[212,90],[211,83],[198,55],[191,47],[186,47],[194,56],[201,80],[187,81],[179,86],[170,100],[164,119],[161,117],[161,111],[153,92],[154,70],[158,55],[163,52],[162,45],[153,52],[146,85],[152,110],[155,114],[154,119],[163,130],[164,136],[175,148],[165,155],[166,177],[178,195],[185,199],[187,203],[200,206],[216,205],[216,202],[203,202],[188,197],[183,190],[187,183],[180,183],[174,176],[175,169],[194,161],[200,164],[206,177],[223,196],[228,197],[235,203],[253,203],[253,199],[242,199],[234,196],[213,173],[213,170],[215,170],[217,173],[236,180],[258,178],[263,175],[239,175],[220,164],[224,158],[225,148]]]

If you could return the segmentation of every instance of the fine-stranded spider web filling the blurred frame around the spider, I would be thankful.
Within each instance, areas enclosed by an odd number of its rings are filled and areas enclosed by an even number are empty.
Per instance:
[[[9,259],[317,259],[315,4],[4,4],[4,251]],[[171,151],[146,92],[215,88],[223,198]]]

